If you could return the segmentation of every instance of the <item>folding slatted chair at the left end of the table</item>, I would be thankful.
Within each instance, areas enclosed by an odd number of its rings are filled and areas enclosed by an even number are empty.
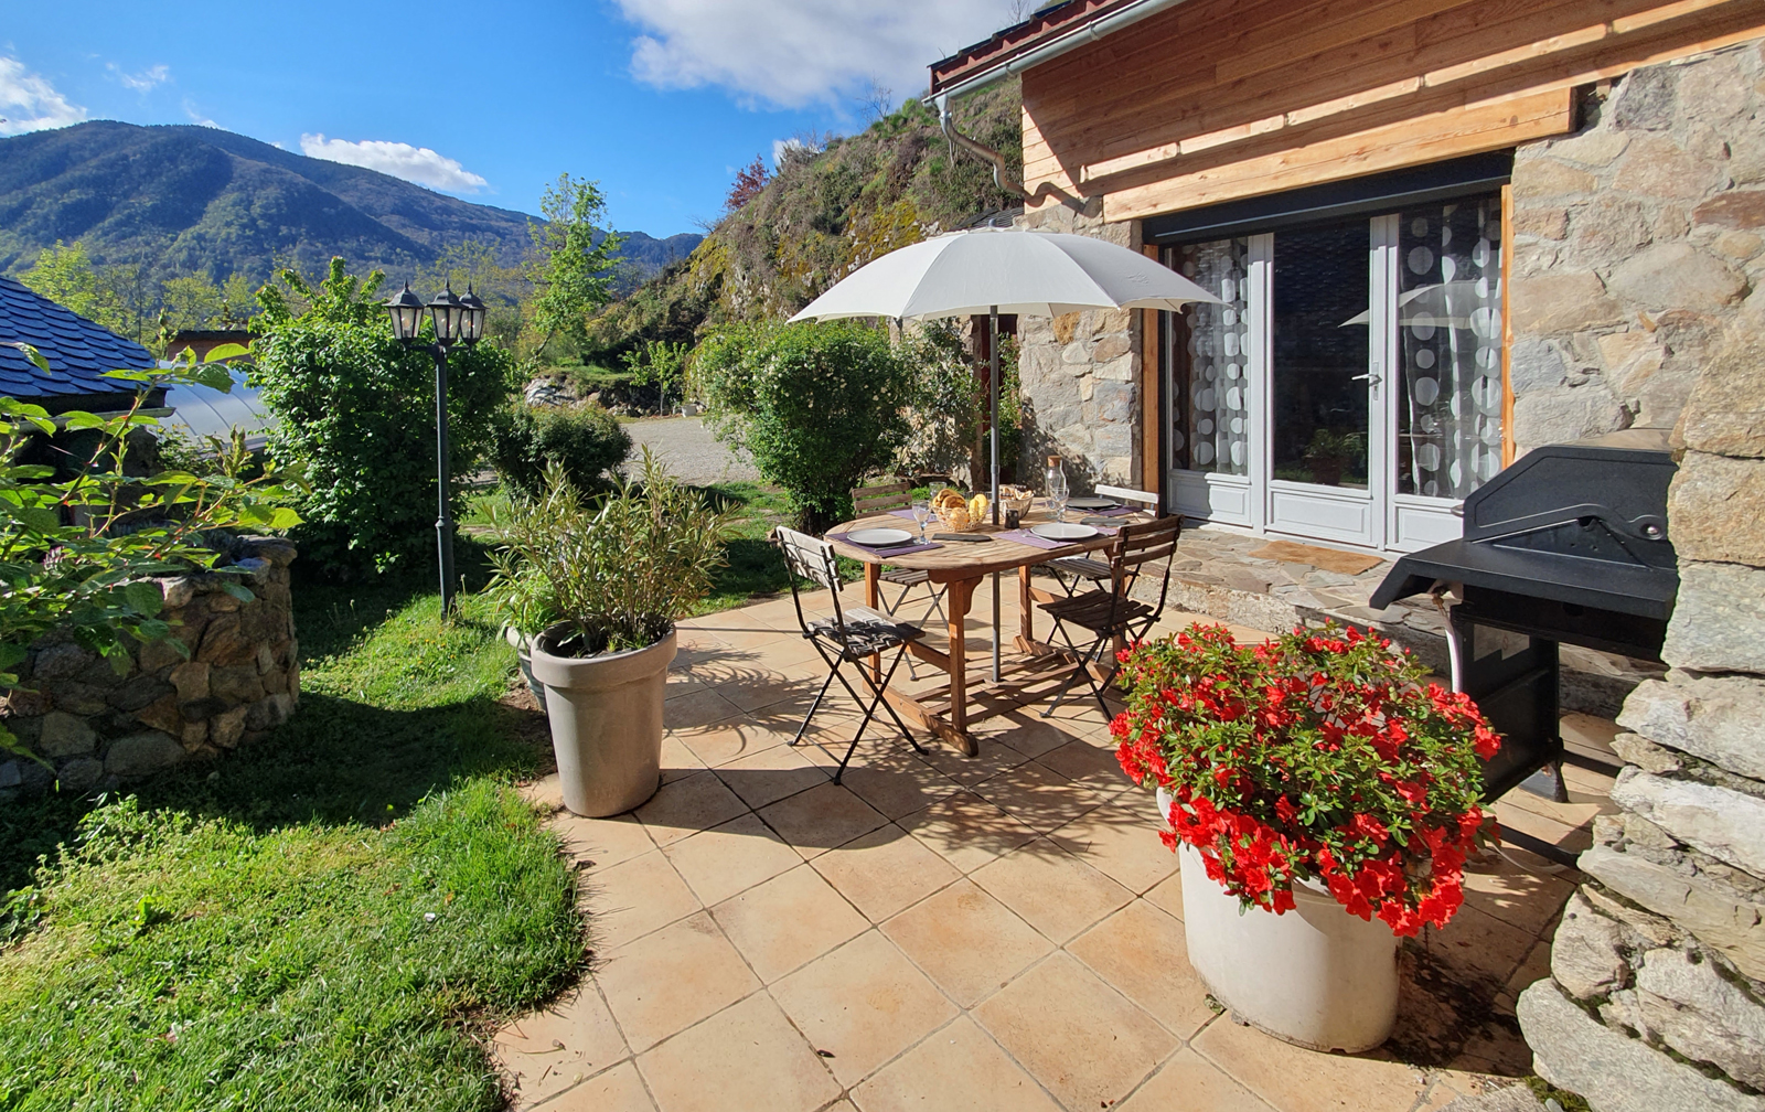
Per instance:
[[[796,736],[791,738],[791,745],[798,745],[803,734],[808,731],[810,718],[821,710],[821,701],[826,697],[828,688],[838,680],[840,687],[852,697],[865,711],[865,720],[858,724],[858,733],[852,734],[852,743],[845,747],[845,755],[840,757],[840,766],[833,773],[833,782],[838,784],[840,777],[845,775],[845,764],[852,759],[852,752],[858,750],[858,743],[863,740],[865,731],[870,727],[870,720],[875,717],[877,708],[888,711],[888,717],[895,720],[900,727],[900,736],[913,745],[914,752],[925,752],[913,734],[907,731],[907,724],[900,720],[895,708],[888,704],[882,692],[888,690],[890,680],[895,678],[895,669],[900,667],[900,658],[907,655],[907,642],[918,641],[923,632],[913,625],[900,625],[886,614],[879,614],[870,607],[863,605],[844,605],[840,602],[840,575],[835,568],[833,545],[826,540],[815,540],[807,533],[798,533],[796,530],[777,528],[773,530],[773,544],[784,552],[784,565],[787,568],[785,579],[791,581],[791,602],[796,605],[796,621],[803,628],[803,637],[815,646],[821,658],[828,664],[828,678],[822,681],[821,690],[815,692],[815,701],[808,704],[808,713],[803,715],[803,724],[796,727]],[[828,588],[833,595],[833,616],[831,618],[810,618],[803,611],[803,595],[798,590],[798,579],[807,579],[810,582],[819,582]],[[870,657],[877,657],[895,650],[895,658],[888,662],[888,671],[882,672],[881,681],[872,676],[865,662]],[[865,704],[865,697],[858,694],[845,672],[840,671],[842,664],[854,665],[860,680],[870,688],[870,704]],[[817,743],[819,745],[819,743]],[[822,747],[826,752],[826,747]]]

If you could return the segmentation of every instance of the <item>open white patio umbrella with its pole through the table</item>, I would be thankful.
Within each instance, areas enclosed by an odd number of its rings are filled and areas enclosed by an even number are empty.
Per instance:
[[[1144,254],[1087,235],[973,228],[921,240],[867,263],[792,321],[845,316],[939,319],[987,314],[994,524],[999,524],[999,314],[1061,316],[1082,309],[1183,309],[1221,304]],[[999,575],[994,575],[992,680],[999,681]]]

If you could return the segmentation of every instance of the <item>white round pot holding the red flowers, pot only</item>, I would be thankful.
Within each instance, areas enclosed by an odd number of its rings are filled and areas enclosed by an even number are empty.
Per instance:
[[[1160,821],[1170,796],[1160,796]],[[1190,965],[1237,1018],[1313,1050],[1371,1050],[1398,1018],[1398,939],[1318,884],[1294,884],[1296,907],[1239,913],[1183,844],[1183,928]]]

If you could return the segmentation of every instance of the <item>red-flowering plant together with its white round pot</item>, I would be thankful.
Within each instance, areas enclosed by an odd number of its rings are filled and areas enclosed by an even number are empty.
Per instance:
[[[1500,745],[1463,694],[1334,625],[1243,646],[1190,627],[1123,653],[1110,733],[1183,858],[1190,964],[1239,1018],[1368,1050],[1398,1006],[1396,937],[1446,927]]]

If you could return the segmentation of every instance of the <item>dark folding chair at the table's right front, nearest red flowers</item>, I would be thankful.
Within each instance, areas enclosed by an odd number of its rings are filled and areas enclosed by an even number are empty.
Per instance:
[[[1115,544],[1108,549],[1107,574],[1110,590],[1085,591],[1084,595],[1041,604],[1041,609],[1054,618],[1054,632],[1078,657],[1078,664],[1066,676],[1061,690],[1054,695],[1054,703],[1048,704],[1048,710],[1041,711],[1043,718],[1052,717],[1059,710],[1080,676],[1091,685],[1091,695],[1096,697],[1103,718],[1110,718],[1108,704],[1103,703],[1103,688],[1108,687],[1110,680],[1115,678],[1115,669],[1121,667],[1115,653],[1110,650],[1117,639],[1144,639],[1160,614],[1165,612],[1165,598],[1170,593],[1170,561],[1177,552],[1177,537],[1181,531],[1183,517],[1160,517],[1138,526],[1123,526],[1121,533],[1115,535]],[[1138,575],[1145,574],[1145,565],[1160,560],[1165,561],[1165,567],[1158,584],[1158,604],[1147,605],[1128,595],[1128,588],[1133,586]],[[1087,648],[1078,648],[1071,632],[1068,632],[1070,628],[1085,630],[1096,639]],[[1100,680],[1091,671],[1091,665],[1101,664],[1105,655],[1108,657],[1108,667]]]

